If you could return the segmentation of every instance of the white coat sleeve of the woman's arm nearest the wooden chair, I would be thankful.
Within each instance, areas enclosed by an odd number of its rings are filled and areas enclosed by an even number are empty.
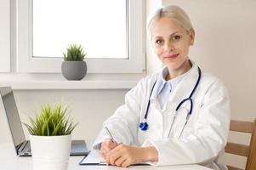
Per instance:
[[[158,150],[154,165],[179,165],[213,161],[224,149],[230,126],[230,101],[221,82],[214,82],[202,99],[193,133],[183,139],[146,140],[143,146]]]

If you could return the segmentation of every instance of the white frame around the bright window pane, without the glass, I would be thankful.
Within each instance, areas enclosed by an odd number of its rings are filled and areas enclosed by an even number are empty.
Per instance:
[[[145,73],[145,0],[127,0],[129,59],[85,59],[88,73]],[[60,73],[62,58],[32,57],[32,0],[16,0],[17,71]]]

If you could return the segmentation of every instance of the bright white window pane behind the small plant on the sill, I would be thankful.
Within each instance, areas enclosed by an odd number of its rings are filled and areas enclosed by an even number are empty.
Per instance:
[[[33,0],[33,57],[78,43],[87,58],[128,59],[127,14],[126,0]]]

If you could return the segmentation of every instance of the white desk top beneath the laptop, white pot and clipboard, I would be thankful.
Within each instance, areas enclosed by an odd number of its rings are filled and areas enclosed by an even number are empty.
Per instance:
[[[30,156],[16,156],[13,144],[0,144],[0,169],[1,170],[32,170],[32,159]],[[183,166],[132,166],[132,167],[113,167],[113,166],[80,166],[82,156],[71,156],[69,161],[69,170],[210,170],[207,167],[199,165]]]

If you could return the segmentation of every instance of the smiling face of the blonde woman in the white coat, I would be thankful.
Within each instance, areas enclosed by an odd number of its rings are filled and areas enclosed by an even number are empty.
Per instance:
[[[170,74],[180,75],[191,68],[188,53],[194,37],[194,31],[187,32],[179,22],[168,17],[155,20],[151,25],[153,48]]]

